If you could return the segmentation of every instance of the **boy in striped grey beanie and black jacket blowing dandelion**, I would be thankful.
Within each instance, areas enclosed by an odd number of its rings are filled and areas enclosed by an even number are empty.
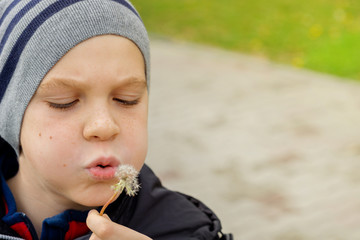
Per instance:
[[[128,1],[1,0],[0,14],[0,238],[230,239],[144,165],[149,41]],[[100,216],[124,164],[141,189]]]

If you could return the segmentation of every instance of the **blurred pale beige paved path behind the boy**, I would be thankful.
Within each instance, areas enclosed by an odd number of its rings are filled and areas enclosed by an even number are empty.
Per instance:
[[[239,240],[360,239],[360,84],[152,41],[148,163]]]

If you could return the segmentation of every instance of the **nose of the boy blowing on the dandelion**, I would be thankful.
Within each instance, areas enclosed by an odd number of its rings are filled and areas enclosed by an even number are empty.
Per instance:
[[[106,108],[88,115],[83,135],[88,141],[106,141],[115,138],[120,132],[116,119]]]

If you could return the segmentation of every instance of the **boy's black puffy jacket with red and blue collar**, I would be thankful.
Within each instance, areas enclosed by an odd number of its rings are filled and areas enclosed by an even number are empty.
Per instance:
[[[6,158],[9,155],[0,155],[0,163],[9,163]],[[23,238],[35,240],[37,236],[31,221],[16,212],[5,182],[6,177],[13,175],[9,171],[17,171],[16,166],[3,164],[2,170],[4,204],[0,203],[0,239],[11,239],[4,235],[20,237],[20,233]],[[106,213],[113,221],[156,240],[232,239],[231,235],[222,234],[220,220],[208,207],[190,196],[164,188],[147,165],[140,172],[139,182],[138,195],[122,194],[107,208]],[[46,219],[41,239],[88,239],[86,216],[87,212],[68,210]]]

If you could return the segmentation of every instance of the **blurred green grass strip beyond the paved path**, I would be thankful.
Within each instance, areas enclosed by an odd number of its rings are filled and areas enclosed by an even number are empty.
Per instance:
[[[360,80],[358,0],[132,0],[150,33]]]

